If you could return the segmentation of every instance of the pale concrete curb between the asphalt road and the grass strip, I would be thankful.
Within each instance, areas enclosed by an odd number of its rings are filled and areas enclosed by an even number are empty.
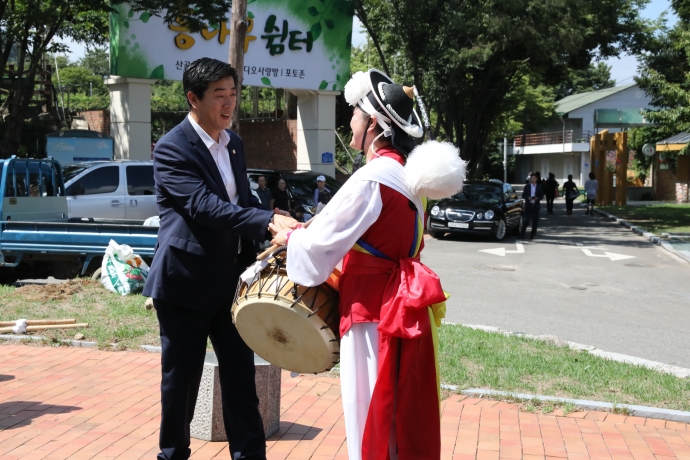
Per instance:
[[[513,335],[513,336],[517,336],[517,337],[524,337],[527,339],[541,340],[541,341],[545,341],[545,342],[553,342],[556,345],[567,346],[568,348],[571,348],[573,350],[587,351],[588,353],[590,353],[594,356],[598,356],[600,358],[608,359],[611,361],[632,364],[633,366],[645,367],[647,369],[651,369],[651,370],[654,370],[657,372],[662,372],[664,374],[671,374],[671,375],[676,376],[678,378],[690,377],[690,369],[686,369],[684,367],[673,366],[671,364],[664,364],[664,363],[660,363],[658,361],[651,361],[649,359],[644,359],[644,358],[638,358],[637,356],[630,356],[630,355],[624,355],[622,353],[614,353],[614,352],[610,352],[610,351],[604,351],[604,350],[600,350],[596,347],[593,347],[591,345],[583,345],[583,344],[577,343],[577,342],[570,342],[567,340],[562,340],[555,335],[525,334],[524,332],[511,332],[511,331],[506,331],[504,329],[501,329],[499,327],[483,326],[483,325],[478,325],[478,324],[459,324],[459,323],[451,323],[451,322],[445,322],[445,321],[444,321],[444,324],[453,324],[453,325],[457,325],[457,326],[465,326],[465,327],[469,327],[471,329],[477,329],[477,330],[486,331],[486,332],[494,332],[494,333],[503,334],[503,335]]]

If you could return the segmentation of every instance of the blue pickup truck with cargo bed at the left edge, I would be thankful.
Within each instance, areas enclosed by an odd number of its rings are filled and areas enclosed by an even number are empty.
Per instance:
[[[2,279],[88,275],[100,266],[111,239],[131,246],[149,262],[157,233],[157,227],[141,222],[68,219],[57,161],[14,156],[0,160]]]

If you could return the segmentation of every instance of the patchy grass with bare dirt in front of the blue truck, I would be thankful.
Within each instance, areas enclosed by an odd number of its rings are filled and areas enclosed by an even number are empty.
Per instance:
[[[85,341],[111,348],[160,345],[158,319],[144,308],[141,295],[120,296],[108,292],[90,279],[75,279],[49,286],[0,286],[0,321],[75,318],[89,323],[83,329],[53,329],[29,334],[45,337],[48,343],[84,334]]]

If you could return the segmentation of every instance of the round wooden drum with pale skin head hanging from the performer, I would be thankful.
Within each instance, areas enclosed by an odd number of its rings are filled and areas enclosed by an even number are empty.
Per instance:
[[[299,373],[326,372],[340,360],[337,276],[317,287],[290,281],[281,248],[254,278],[240,280],[233,322],[269,363]]]

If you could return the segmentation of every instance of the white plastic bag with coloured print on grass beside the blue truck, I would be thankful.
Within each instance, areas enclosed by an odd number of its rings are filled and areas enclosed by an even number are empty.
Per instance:
[[[131,247],[110,240],[101,265],[101,284],[120,295],[138,294],[144,290],[149,266]]]

